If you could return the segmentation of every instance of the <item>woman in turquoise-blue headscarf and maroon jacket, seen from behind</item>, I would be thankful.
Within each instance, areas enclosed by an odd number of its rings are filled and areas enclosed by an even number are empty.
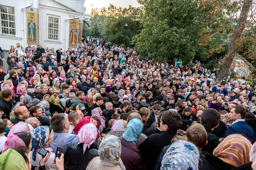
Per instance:
[[[142,122],[137,119],[131,119],[126,126],[125,133],[120,137],[122,143],[121,159],[125,164],[126,170],[143,170],[140,150],[135,144],[139,139],[143,129]]]

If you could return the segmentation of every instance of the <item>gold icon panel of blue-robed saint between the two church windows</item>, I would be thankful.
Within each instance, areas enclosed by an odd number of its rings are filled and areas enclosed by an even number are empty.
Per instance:
[[[26,30],[27,30],[27,44],[37,45],[37,13],[26,12]]]

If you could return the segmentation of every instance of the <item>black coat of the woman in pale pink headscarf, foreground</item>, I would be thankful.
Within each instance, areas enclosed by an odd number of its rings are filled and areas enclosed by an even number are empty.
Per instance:
[[[90,148],[83,150],[83,143],[72,145],[67,148],[64,155],[65,170],[85,170],[89,162],[98,155],[96,143],[90,145]]]

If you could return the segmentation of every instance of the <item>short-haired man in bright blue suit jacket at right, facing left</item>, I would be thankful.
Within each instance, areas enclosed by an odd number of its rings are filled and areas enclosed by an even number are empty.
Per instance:
[[[248,139],[254,139],[253,129],[246,124],[244,118],[246,116],[246,110],[243,105],[237,105],[233,107],[230,111],[230,120],[233,120],[233,124],[227,128],[225,137],[239,133],[246,136]]]

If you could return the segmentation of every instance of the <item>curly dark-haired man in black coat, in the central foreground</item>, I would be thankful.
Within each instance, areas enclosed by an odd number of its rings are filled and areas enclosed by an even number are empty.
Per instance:
[[[181,117],[177,112],[164,111],[160,119],[162,133],[154,133],[139,146],[143,161],[147,164],[147,170],[154,170],[157,159],[163,147],[171,144],[181,125]],[[150,149],[149,149],[150,148]]]

